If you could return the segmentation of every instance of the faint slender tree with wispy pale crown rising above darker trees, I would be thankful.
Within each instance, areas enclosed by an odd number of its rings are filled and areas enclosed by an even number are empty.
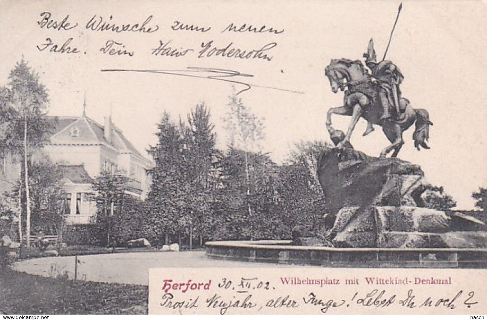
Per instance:
[[[232,86],[229,107],[226,113],[225,123],[228,133],[228,145],[230,149],[241,149],[244,151],[245,159],[245,181],[247,185],[247,196],[250,195],[250,170],[248,152],[260,151],[260,141],[264,138],[263,119],[258,118],[247,107],[244,106],[242,99],[237,96],[235,86]],[[253,239],[252,209],[247,202],[248,218],[250,223],[250,239]]]

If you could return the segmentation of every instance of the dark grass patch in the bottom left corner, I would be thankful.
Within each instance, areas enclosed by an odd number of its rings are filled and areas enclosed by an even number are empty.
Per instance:
[[[145,285],[70,281],[0,267],[0,313],[147,314]]]

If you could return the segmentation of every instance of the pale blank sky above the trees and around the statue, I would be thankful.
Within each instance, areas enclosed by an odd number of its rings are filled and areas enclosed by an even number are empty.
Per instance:
[[[399,157],[421,165],[431,184],[444,186],[458,208],[470,209],[474,206],[471,192],[487,187],[487,5],[473,0],[403,2],[387,59],[405,76],[403,96],[413,108],[429,111],[433,127],[431,150],[414,149],[411,128],[404,133],[406,144]],[[89,117],[103,123],[103,117],[111,114],[115,125],[144,151],[156,143],[156,124],[164,111],[176,121],[201,102],[210,108],[218,144],[224,147],[222,119],[232,83],[210,79],[208,73],[189,77],[187,72],[102,70],[198,67],[252,75],[220,79],[250,84],[250,90],[239,97],[264,118],[262,150],[281,163],[297,142],[330,141],[326,112],[341,106],[343,93],[331,92],[323,70],[333,58],[362,59],[370,38],[382,57],[399,3],[0,0],[0,84],[7,82],[10,70],[24,57],[48,89],[50,115],[81,115],[86,100]],[[48,16],[56,25],[44,19]],[[138,26],[119,33],[87,28],[90,20],[100,19]],[[144,21],[148,32],[140,30]],[[242,30],[252,25],[264,32],[227,30],[230,24],[235,29],[245,24]],[[181,25],[209,30],[171,28]],[[70,38],[68,45],[74,53],[51,52],[54,44],[60,51]],[[112,48],[133,55],[110,55],[110,41]],[[217,56],[215,52],[208,56],[211,48],[201,53],[205,46],[228,45],[247,51],[267,46],[270,49],[264,53],[270,60]],[[161,46],[167,50],[154,50]],[[176,55],[174,50],[180,56],[162,54]],[[236,84],[236,88],[247,87]],[[348,122],[347,117],[333,118],[334,127],[344,131]],[[388,141],[380,128],[362,137],[365,125],[364,120],[359,121],[351,142],[357,150],[378,155]]]

